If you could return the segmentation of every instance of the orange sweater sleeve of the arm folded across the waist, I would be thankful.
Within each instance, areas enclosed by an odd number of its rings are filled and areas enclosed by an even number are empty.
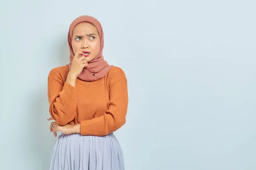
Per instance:
[[[110,91],[108,110],[102,116],[81,121],[81,135],[105,136],[125,124],[128,89],[127,79],[121,68],[111,72],[108,84]]]

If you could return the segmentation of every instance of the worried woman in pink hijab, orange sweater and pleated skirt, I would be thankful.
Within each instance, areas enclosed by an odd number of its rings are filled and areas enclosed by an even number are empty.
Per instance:
[[[48,77],[48,100],[58,136],[50,170],[124,170],[113,132],[125,124],[127,79],[102,56],[102,26],[90,16],[76,18],[68,33],[70,63]]]

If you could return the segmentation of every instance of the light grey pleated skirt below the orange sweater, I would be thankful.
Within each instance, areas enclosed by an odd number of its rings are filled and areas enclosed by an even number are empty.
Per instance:
[[[58,136],[52,150],[49,170],[124,170],[122,148],[113,135]]]

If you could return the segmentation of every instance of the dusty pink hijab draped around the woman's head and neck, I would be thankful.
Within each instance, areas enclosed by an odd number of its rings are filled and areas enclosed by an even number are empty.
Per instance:
[[[68,32],[68,45],[70,48],[70,63],[68,64],[68,67],[70,69],[73,57],[75,56],[72,48],[72,34],[73,34],[73,29],[75,26],[79,23],[82,22],[88,22],[93,24],[98,32],[99,32],[99,37],[100,37],[100,49],[99,49],[99,54],[90,62],[88,62],[88,65],[83,68],[81,74],[79,74],[78,78],[87,81],[87,82],[93,82],[96,80],[101,79],[104,77],[106,74],[108,74],[108,71],[113,67],[113,65],[108,65],[108,62],[104,60],[102,51],[103,51],[103,46],[104,46],[104,34],[102,30],[102,26],[99,23],[99,21],[91,16],[88,15],[82,15],[80,17],[77,17],[71,24]]]

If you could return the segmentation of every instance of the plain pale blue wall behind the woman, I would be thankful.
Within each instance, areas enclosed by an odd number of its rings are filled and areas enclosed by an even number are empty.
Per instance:
[[[0,169],[47,170],[47,76],[80,15],[125,71],[126,170],[256,169],[254,0],[8,0],[0,5]]]

